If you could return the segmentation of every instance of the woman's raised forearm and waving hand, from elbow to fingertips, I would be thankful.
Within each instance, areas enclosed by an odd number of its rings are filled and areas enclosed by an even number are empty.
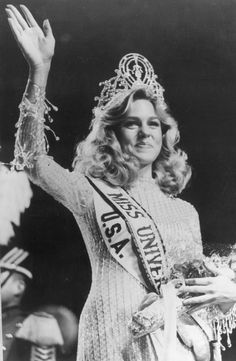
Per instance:
[[[8,5],[8,23],[29,66],[29,77],[20,104],[20,118],[16,124],[14,165],[17,169],[32,169],[38,156],[47,153],[45,139],[45,91],[55,40],[48,20],[41,29],[26,6],[24,16],[13,5]]]

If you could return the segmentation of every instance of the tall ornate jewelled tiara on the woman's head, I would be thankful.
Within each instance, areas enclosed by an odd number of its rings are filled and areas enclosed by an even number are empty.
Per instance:
[[[130,90],[139,88],[145,88],[158,99],[162,108],[167,108],[163,96],[164,88],[157,82],[153,66],[143,55],[126,54],[120,60],[115,73],[116,76],[99,83],[103,89],[100,96],[94,98],[98,102],[95,111],[104,110],[113,103],[119,103]]]

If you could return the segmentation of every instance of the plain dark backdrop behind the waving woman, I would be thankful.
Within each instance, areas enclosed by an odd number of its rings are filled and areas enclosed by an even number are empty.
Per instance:
[[[19,4],[14,1],[14,4]],[[204,244],[236,240],[236,1],[232,0],[40,0],[25,1],[40,23],[49,18],[57,40],[47,97],[59,106],[49,135],[50,153],[70,168],[74,145],[87,134],[99,81],[120,58],[140,52],[154,66],[181,147],[193,166],[181,195],[200,214]],[[17,106],[27,66],[0,5],[0,152],[13,158]],[[62,303],[79,315],[90,268],[70,213],[40,189],[16,230],[16,241],[34,258],[28,307]]]

